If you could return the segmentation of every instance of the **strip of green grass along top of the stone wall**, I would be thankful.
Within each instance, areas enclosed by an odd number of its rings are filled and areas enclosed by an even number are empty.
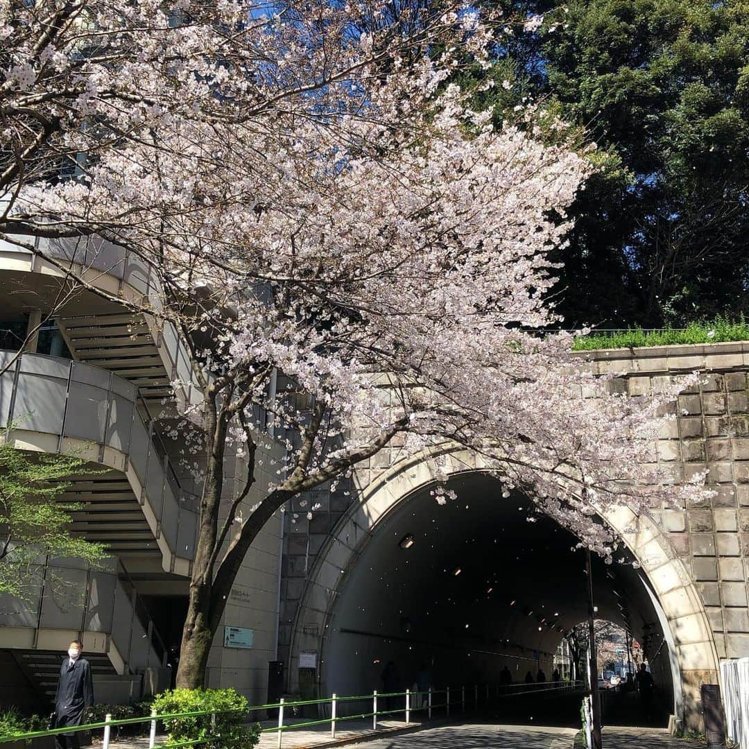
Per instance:
[[[702,320],[686,328],[628,328],[627,330],[599,330],[575,339],[573,351],[593,351],[596,348],[640,348],[688,343],[720,343],[749,341],[749,324],[743,315],[738,321],[718,317]]]

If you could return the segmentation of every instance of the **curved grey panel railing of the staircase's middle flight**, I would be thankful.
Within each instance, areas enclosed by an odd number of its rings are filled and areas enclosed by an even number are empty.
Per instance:
[[[0,375],[0,427],[13,424],[51,435],[55,452],[66,438],[88,440],[100,446],[99,462],[107,448],[123,453],[121,470],[139,503],[148,503],[157,537],[163,536],[175,557],[192,560],[198,499],[181,487],[154,421],[143,419],[148,411],[136,386],[105,369],[41,354],[0,351],[0,371],[6,366]]]

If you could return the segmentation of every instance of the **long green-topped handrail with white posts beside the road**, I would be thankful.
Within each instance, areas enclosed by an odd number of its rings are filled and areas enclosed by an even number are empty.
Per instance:
[[[485,688],[485,695],[482,690],[482,694],[479,695],[479,685],[473,685],[473,695],[474,699],[471,700],[473,702],[473,709],[478,709],[479,706],[486,707],[488,706],[492,700],[491,700],[491,694],[490,694],[490,688],[491,685],[489,683],[485,683],[484,685],[481,685],[483,688]],[[518,692],[512,692],[512,693],[506,693],[503,691],[503,689],[507,687],[515,686],[516,688],[520,688],[521,691]],[[500,684],[494,684],[494,698],[500,699],[502,697],[516,697],[520,694],[549,694],[552,692],[573,692],[577,691],[580,688],[583,688],[583,682],[581,681],[575,681],[575,682],[547,682],[545,684],[518,684],[518,685],[500,685]],[[448,701],[446,703],[443,703],[442,705],[434,705],[431,701],[431,697],[434,694],[447,694],[448,695]],[[379,693],[377,691],[372,692],[372,694],[362,694],[362,695],[350,695],[350,696],[342,696],[338,697],[336,694],[331,695],[330,697],[324,697],[319,700],[294,700],[291,702],[285,702],[283,698],[279,700],[277,703],[267,703],[264,705],[251,705],[244,708],[228,708],[228,709],[218,709],[218,710],[193,710],[190,712],[173,712],[173,713],[163,713],[162,715],[157,714],[157,712],[152,711],[151,715],[142,717],[142,718],[118,718],[113,719],[111,715],[107,715],[106,719],[104,721],[98,721],[96,723],[88,723],[88,724],[82,724],[80,726],[66,726],[63,728],[50,728],[48,730],[43,731],[30,731],[28,733],[19,733],[15,734],[13,736],[0,736],[0,744],[3,744],[5,742],[16,742],[16,741],[25,741],[28,739],[40,739],[44,736],[55,736],[60,733],[78,733],[81,731],[91,731],[91,730],[98,730],[103,729],[104,730],[104,742],[102,745],[102,749],[109,749],[109,742],[110,742],[110,731],[112,728],[120,727],[120,726],[132,726],[136,724],[142,724],[142,723],[149,723],[151,724],[151,736],[149,739],[148,747],[149,749],[154,749],[154,747],[157,746],[156,744],[156,725],[159,721],[171,721],[171,720],[178,720],[181,718],[200,718],[204,716],[210,715],[212,718],[215,718],[218,714],[223,713],[243,713],[244,715],[249,716],[252,712],[258,712],[258,710],[273,710],[277,709],[279,711],[279,718],[278,718],[278,724],[276,726],[264,728],[261,730],[261,733],[278,733],[279,741],[278,746],[281,747],[282,745],[282,733],[284,731],[289,730],[295,730],[298,728],[304,728],[309,726],[319,726],[323,724],[331,724],[331,734],[333,738],[335,738],[336,733],[336,724],[343,722],[343,721],[352,721],[362,718],[374,718],[374,724],[373,724],[373,730],[377,730],[377,716],[378,715],[395,715],[399,713],[405,713],[406,718],[406,724],[409,724],[410,721],[410,713],[413,712],[427,712],[428,718],[431,718],[431,712],[434,709],[437,709],[438,707],[447,707],[451,705],[462,705],[462,709],[465,711],[467,706],[467,700],[466,700],[466,688],[462,686],[458,690],[455,690],[453,694],[458,694],[458,699],[456,700],[449,700],[449,694],[450,694],[450,688],[446,687],[444,689],[432,689],[429,688],[428,690],[419,690],[419,691],[410,691],[407,689],[404,692],[382,692]],[[427,696],[428,697],[428,704],[421,706],[414,706],[410,702],[411,697],[419,697],[419,696]],[[405,708],[395,708],[395,709],[380,709],[377,710],[377,697],[405,697],[406,699],[406,706]],[[479,699],[480,697],[480,699]],[[343,701],[354,701],[354,700],[372,700],[373,704],[373,710],[372,712],[364,712],[357,715],[343,715],[338,716],[336,715],[335,706],[336,703],[343,702]],[[333,707],[332,715],[330,718],[321,718],[314,721],[304,721],[301,723],[292,723],[292,724],[284,724],[283,722],[283,713],[284,708],[287,707],[296,707],[296,706],[305,706],[305,705],[327,705],[330,704]],[[447,714],[449,715],[449,709]],[[186,742],[173,742],[173,743],[167,743],[167,744],[160,744],[161,749],[174,749],[181,746],[191,746],[191,745],[197,745],[197,744],[203,744],[210,741],[210,739],[195,739],[190,740]]]

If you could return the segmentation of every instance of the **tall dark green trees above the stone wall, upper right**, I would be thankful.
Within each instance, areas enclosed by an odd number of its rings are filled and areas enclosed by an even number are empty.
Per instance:
[[[523,97],[543,102],[598,146],[555,258],[566,327],[747,312],[749,4],[485,4],[508,19],[489,75],[512,89],[494,85],[479,102],[493,102],[498,121],[512,121]],[[541,28],[521,31],[536,13]],[[479,87],[482,75],[473,71]]]

